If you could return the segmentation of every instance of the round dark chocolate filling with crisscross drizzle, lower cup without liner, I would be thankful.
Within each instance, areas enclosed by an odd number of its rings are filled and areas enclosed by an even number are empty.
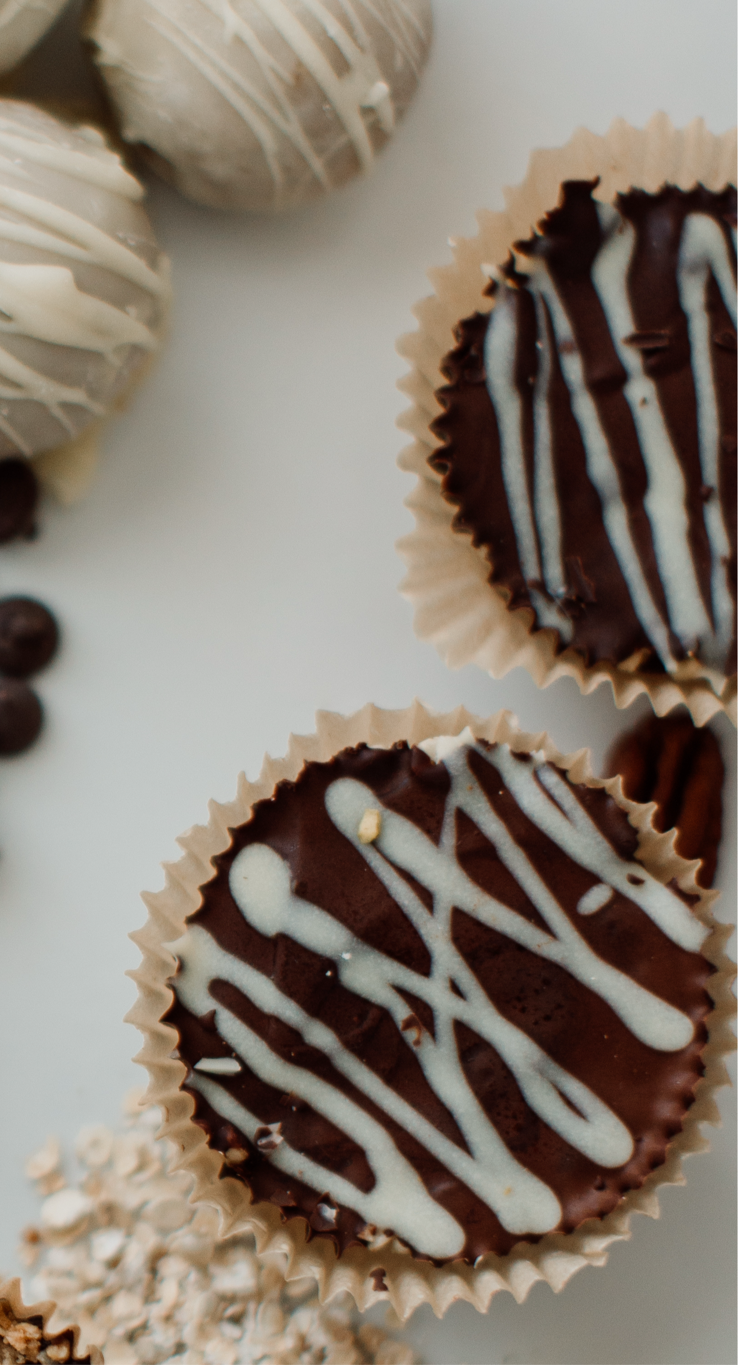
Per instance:
[[[224,1175],[340,1250],[475,1261],[663,1163],[711,968],[604,790],[506,745],[441,758],[360,745],[259,801],[165,1017]]]

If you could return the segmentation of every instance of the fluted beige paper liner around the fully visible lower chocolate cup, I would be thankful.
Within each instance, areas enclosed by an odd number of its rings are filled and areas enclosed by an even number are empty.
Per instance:
[[[576,1233],[548,1234],[535,1246],[520,1244],[507,1256],[484,1256],[475,1267],[461,1261],[434,1267],[413,1257],[396,1239],[372,1249],[352,1246],[337,1257],[333,1244],[326,1238],[306,1241],[304,1219],[284,1223],[276,1205],[251,1204],[250,1192],[240,1181],[218,1178],[222,1156],[210,1151],[202,1129],[191,1122],[194,1102],[180,1089],[187,1067],[172,1058],[172,1050],[177,1044],[176,1029],[161,1022],[173,999],[166,981],[175,972],[176,961],[168,945],[180,938],[187,916],[199,908],[199,887],[213,876],[213,856],[228,848],[228,830],[243,824],[254,803],[270,797],[277,782],[285,778],[293,781],[303,763],[325,762],[340,749],[361,741],[378,748],[387,748],[397,740],[419,744],[435,734],[458,734],[467,725],[479,738],[509,743],[518,751],[543,749],[576,782],[604,786],[638,830],[638,857],[649,871],[663,882],[677,878],[681,887],[698,895],[694,913],[712,928],[703,951],[718,968],[709,986],[715,1013],[711,1016],[709,1041],[704,1052],[705,1076],[697,1085],[682,1132],[670,1144],[666,1164],[649,1175],[640,1190],[626,1194],[617,1211],[604,1219],[591,1219]],[[286,1259],[288,1279],[311,1276],[318,1280],[321,1301],[348,1290],[359,1308],[366,1309],[377,1302],[386,1304],[389,1297],[398,1317],[407,1319],[424,1302],[441,1317],[457,1298],[468,1299],[480,1312],[486,1312],[492,1295],[501,1290],[509,1290],[521,1302],[536,1280],[546,1280],[558,1293],[584,1265],[604,1265],[610,1245],[630,1237],[632,1213],[658,1218],[656,1188],[683,1182],[682,1156],[704,1151],[709,1145],[701,1134],[703,1123],[719,1123],[713,1092],[728,1081],[723,1058],[737,1046],[728,1020],[738,1011],[738,1002],[730,990],[735,972],[724,954],[730,928],[716,924],[711,913],[718,893],[697,886],[694,872],[698,863],[688,863],[674,852],[674,833],[655,833],[651,824],[655,809],[653,804],[637,805],[628,801],[622,796],[619,778],[595,778],[587,749],[563,756],[546,734],[521,732],[509,711],[480,719],[458,707],[441,715],[427,711],[420,702],[415,702],[407,711],[382,711],[375,706],[366,706],[349,717],[321,711],[316,715],[316,733],[291,736],[286,756],[266,756],[255,782],[248,782],[241,773],[235,801],[226,805],[211,801],[209,823],[195,826],[183,835],[179,844],[184,856],[177,863],[165,864],[164,890],[143,897],[149,920],[143,930],[131,935],[143,956],[142,966],[130,973],[138,984],[139,996],[127,1020],[145,1036],[136,1061],[149,1070],[146,1103],[161,1106],[161,1136],[181,1151],[175,1168],[191,1173],[194,1201],[202,1200],[220,1209],[221,1233],[254,1231],[259,1252],[280,1253]],[[372,1271],[379,1267],[385,1271],[389,1294],[378,1290],[372,1282]]]

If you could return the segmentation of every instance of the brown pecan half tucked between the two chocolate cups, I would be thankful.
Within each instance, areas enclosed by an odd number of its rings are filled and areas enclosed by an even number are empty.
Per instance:
[[[712,886],[723,830],[724,767],[720,745],[689,715],[647,715],[615,740],[604,773],[622,777],[630,801],[656,801],[653,827],[677,830],[682,857],[701,859],[700,886]]]

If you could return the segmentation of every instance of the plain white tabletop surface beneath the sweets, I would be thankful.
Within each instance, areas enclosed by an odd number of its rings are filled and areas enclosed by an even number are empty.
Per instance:
[[[115,1122],[141,1080],[127,932],[175,835],[232,794],[315,707],[371,699],[514,708],[595,756],[643,707],[602,688],[450,673],[419,644],[393,551],[409,526],[396,336],[449,233],[499,206],[528,150],[656,108],[715,131],[738,116],[735,0],[435,0],[437,45],[405,127],[370,182],[300,216],[243,221],[156,187],[175,268],[169,349],[110,430],[101,475],[35,543],[3,550],[0,590],[64,628],[40,681],[42,741],[0,779],[0,1267],[35,1215],[22,1163],[48,1132]],[[735,919],[738,736],[720,882]],[[735,1365],[738,1112],[692,1158],[660,1223],[636,1222],[606,1269],[539,1286],[487,1317],[422,1312],[430,1365]]]

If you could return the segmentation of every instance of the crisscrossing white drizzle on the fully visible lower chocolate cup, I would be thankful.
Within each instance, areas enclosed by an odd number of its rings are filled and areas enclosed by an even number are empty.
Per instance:
[[[371,788],[352,778],[331,782],[325,803],[337,831],[360,853],[426,945],[431,961],[428,976],[364,943],[330,913],[295,894],[288,863],[267,845],[250,844],[236,856],[229,887],[244,919],[258,932],[269,938],[286,935],[333,960],[342,987],[392,1016],[405,1046],[417,1057],[427,1082],[452,1114],[464,1145],[441,1133],[346,1048],[333,1029],[284,994],[270,977],[224,949],[205,925],[195,920],[171,947],[180,964],[176,994],[186,1009],[199,1017],[214,1010],[221,1039],[262,1081],[299,1096],[359,1144],[375,1185],[368,1194],[363,1193],[326,1167],[307,1160],[286,1141],[274,1155],[274,1164],[325,1190],[336,1203],[356,1209],[368,1223],[392,1227],[416,1249],[432,1256],[453,1256],[464,1244],[461,1228],[431,1198],[392,1134],[336,1085],[274,1052],[259,1033],[218,1002],[217,992],[211,992],[213,981],[231,983],[263,1014],[295,1029],[356,1091],[494,1209],[507,1231],[542,1234],[561,1220],[558,1197],[513,1156],[483,1110],[461,1065],[456,1024],[465,1024],[490,1043],[513,1073],[528,1106],[592,1162],[623,1166],[633,1152],[633,1137],[589,1087],[497,1010],[453,943],[453,909],[464,910],[528,951],[558,964],[606,1001],[648,1047],[678,1051],[689,1044],[694,1031],[686,1014],[603,961],[582,939],[492,809],[469,767],[472,748],[497,768],[529,819],[573,861],[596,876],[589,893],[572,906],[574,912],[596,913],[621,891],[682,947],[697,950],[705,930],[679,897],[640,864],[615,852],[542,755],[516,756],[506,745],[484,749],[471,732],[426,741],[423,748],[435,762],[445,763],[452,779],[438,845],[411,820],[383,807]],[[360,834],[367,809],[381,811],[379,831],[368,844]],[[456,853],[457,811],[464,811],[494,845],[546,930],[488,895],[465,874]],[[638,868],[637,885],[629,880],[634,865]],[[431,893],[432,913],[398,870],[411,874]],[[408,1005],[401,992],[412,992],[430,1006],[432,1033],[426,1028],[402,1031]],[[218,1114],[252,1137],[261,1121],[244,1107],[243,1097],[236,1099],[201,1074],[192,1074],[188,1084],[201,1091]]]

